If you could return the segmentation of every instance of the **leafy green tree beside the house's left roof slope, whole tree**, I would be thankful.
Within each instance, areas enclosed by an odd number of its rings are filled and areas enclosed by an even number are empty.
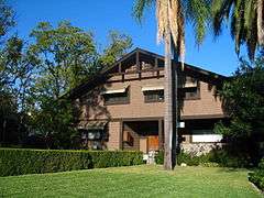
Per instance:
[[[30,125],[45,140],[46,147],[73,147],[78,112],[69,99],[62,96],[117,61],[131,47],[132,41],[130,36],[112,31],[109,44],[100,54],[92,34],[67,21],[56,28],[41,22],[31,36],[35,41],[29,52],[36,57],[38,65],[28,97]]]

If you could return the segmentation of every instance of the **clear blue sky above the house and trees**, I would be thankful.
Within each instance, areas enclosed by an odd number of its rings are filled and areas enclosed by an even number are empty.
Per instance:
[[[163,54],[164,47],[156,43],[154,10],[148,10],[142,25],[132,18],[134,0],[9,0],[16,12],[19,35],[28,38],[40,21],[53,25],[69,20],[73,25],[92,31],[101,46],[107,44],[107,33],[118,30],[133,38],[134,47]],[[244,51],[242,51],[242,55]],[[222,75],[231,75],[239,65],[233,41],[228,30],[213,41],[210,33],[204,44],[197,46],[190,25],[186,30],[186,63]]]

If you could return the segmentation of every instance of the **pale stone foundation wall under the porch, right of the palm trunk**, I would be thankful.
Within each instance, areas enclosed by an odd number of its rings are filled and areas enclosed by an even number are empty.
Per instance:
[[[221,148],[223,143],[184,143],[180,144],[180,150],[194,156],[200,156],[209,153],[213,148]]]

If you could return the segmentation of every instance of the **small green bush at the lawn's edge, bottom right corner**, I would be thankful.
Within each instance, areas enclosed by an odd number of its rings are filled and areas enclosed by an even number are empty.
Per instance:
[[[249,180],[264,191],[264,158],[261,160],[255,172],[249,173]]]

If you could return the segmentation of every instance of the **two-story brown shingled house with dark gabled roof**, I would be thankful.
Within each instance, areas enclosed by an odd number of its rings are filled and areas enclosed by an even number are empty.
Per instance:
[[[178,68],[179,141],[189,152],[208,152],[221,145],[215,123],[226,120],[217,89],[224,76],[185,64]],[[164,57],[141,48],[73,89],[79,110],[78,130],[89,148],[139,150],[164,144]]]

